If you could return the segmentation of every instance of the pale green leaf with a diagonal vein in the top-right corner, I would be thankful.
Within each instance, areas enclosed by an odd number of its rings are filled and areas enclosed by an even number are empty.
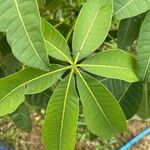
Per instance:
[[[114,0],[114,18],[117,20],[137,16],[150,9],[150,0]]]

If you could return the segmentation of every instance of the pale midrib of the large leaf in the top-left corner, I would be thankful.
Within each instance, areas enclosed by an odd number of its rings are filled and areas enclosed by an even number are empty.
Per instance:
[[[35,49],[35,47],[34,47],[34,44],[32,43],[32,40],[31,40],[30,36],[28,35],[28,32],[27,32],[27,29],[26,29],[26,27],[25,27],[23,18],[22,18],[22,16],[21,16],[21,12],[20,12],[20,9],[19,9],[18,2],[17,2],[17,0],[14,0],[14,1],[15,1],[16,10],[17,10],[17,12],[18,12],[18,16],[19,16],[19,18],[20,18],[20,21],[21,21],[22,27],[23,27],[23,29],[24,29],[24,31],[25,31],[25,34],[26,34],[26,36],[27,36],[27,39],[28,39],[28,41],[29,41],[29,43],[30,43],[30,45],[31,45],[31,47],[32,47],[32,49],[33,49],[33,51],[35,52],[35,54],[37,55],[37,57],[38,57],[39,60],[41,61],[41,63],[47,68],[47,66],[45,65],[45,63],[44,63],[43,60],[41,59],[41,57],[38,55],[38,53],[37,53],[37,51],[36,51],[36,49]]]

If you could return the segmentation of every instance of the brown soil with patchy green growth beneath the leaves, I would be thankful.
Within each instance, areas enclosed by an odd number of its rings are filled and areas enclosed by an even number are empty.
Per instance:
[[[41,141],[42,116],[33,113],[32,124],[32,132],[27,134],[18,130],[10,120],[0,121],[0,140],[12,143],[15,150],[44,150]],[[91,139],[87,129],[81,128],[77,135],[76,150],[116,150],[147,127],[150,127],[150,121],[142,121],[136,117],[128,122],[127,132],[120,133],[109,141]],[[132,150],[150,150],[150,135],[136,144]]]

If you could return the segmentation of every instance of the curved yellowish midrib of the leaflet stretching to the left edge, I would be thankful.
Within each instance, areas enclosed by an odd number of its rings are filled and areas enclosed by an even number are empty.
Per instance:
[[[16,88],[14,88],[11,92],[9,92],[7,95],[5,95],[2,99],[0,99],[0,102],[2,102],[5,98],[7,98],[9,95],[11,95],[14,91],[16,91],[16,90],[19,89],[20,87],[22,87],[22,86],[24,86],[24,85],[26,85],[26,84],[28,84],[28,83],[30,83],[30,82],[33,82],[33,81],[38,80],[38,79],[40,79],[40,78],[42,78],[42,77],[45,77],[45,76],[51,75],[51,74],[53,74],[53,73],[57,73],[57,72],[59,72],[59,71],[63,71],[63,70],[69,69],[69,68],[70,68],[70,66],[69,66],[69,67],[65,67],[65,68],[61,68],[61,69],[58,69],[58,70],[55,70],[55,71],[52,71],[52,72],[48,72],[48,73],[46,73],[46,74],[43,74],[43,75],[41,75],[41,76],[39,76],[39,77],[36,77],[36,78],[34,78],[34,79],[31,79],[31,80],[29,80],[29,81],[26,81],[26,82],[22,83],[21,85],[17,86]]]

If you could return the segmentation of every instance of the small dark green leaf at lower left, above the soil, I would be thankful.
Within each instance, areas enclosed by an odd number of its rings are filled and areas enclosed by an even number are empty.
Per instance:
[[[23,103],[17,110],[10,115],[10,118],[14,121],[18,128],[23,129],[25,132],[30,133],[32,124],[28,107]]]

